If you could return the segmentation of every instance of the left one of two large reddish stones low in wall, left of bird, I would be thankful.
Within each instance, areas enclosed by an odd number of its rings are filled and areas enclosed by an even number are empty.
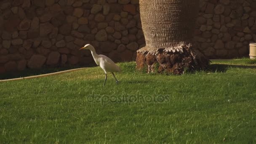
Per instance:
[[[39,69],[43,67],[43,64],[45,64],[45,61],[46,61],[45,56],[35,54],[31,57],[27,66],[31,69]]]

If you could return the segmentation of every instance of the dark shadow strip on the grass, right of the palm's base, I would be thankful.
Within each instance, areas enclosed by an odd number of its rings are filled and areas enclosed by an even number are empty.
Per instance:
[[[228,68],[256,69],[256,66],[233,65],[233,64],[211,64],[208,72],[227,72]]]

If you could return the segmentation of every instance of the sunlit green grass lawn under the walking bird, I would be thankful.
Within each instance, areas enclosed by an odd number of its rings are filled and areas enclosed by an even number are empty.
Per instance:
[[[256,63],[181,76],[119,63],[0,83],[0,143],[256,143]]]

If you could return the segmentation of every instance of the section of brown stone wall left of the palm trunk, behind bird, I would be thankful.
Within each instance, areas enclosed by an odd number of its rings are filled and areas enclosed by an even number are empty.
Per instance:
[[[92,64],[99,54],[131,61],[145,43],[139,0],[3,0],[0,73],[67,64]]]

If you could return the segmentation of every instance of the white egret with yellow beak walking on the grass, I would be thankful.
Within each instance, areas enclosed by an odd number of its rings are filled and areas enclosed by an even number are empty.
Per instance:
[[[79,50],[83,50],[83,49],[90,50],[96,64],[99,65],[101,67],[101,69],[104,70],[106,77],[105,77],[103,86],[105,85],[105,83],[107,81],[107,72],[111,72],[114,77],[115,77],[115,74],[113,72],[121,72],[120,67],[118,67],[114,63],[114,61],[109,59],[109,57],[107,57],[107,56],[98,55],[95,51],[95,48],[92,45],[87,44],[83,48],[80,48]],[[119,81],[117,80],[116,77],[115,77],[115,80],[116,80],[116,83],[119,83]]]

